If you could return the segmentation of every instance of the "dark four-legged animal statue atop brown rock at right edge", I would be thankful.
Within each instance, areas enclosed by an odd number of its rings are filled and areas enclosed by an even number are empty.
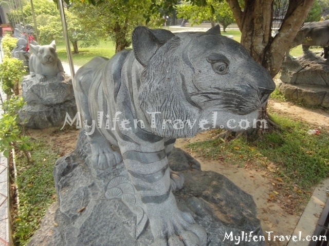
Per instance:
[[[329,46],[329,20],[304,23],[291,48],[297,45],[302,45],[304,53],[308,51],[310,46]],[[324,53],[324,58],[328,58],[327,52]]]

